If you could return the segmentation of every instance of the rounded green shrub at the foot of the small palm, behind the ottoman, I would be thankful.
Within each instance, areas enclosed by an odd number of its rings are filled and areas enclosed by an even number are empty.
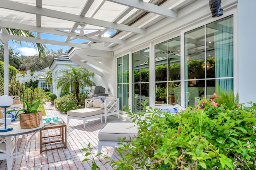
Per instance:
[[[78,101],[75,97],[75,94],[73,93],[54,100],[54,106],[56,107],[56,109],[60,110],[63,113],[67,113],[70,110],[81,109],[84,107],[78,105],[77,103]]]

